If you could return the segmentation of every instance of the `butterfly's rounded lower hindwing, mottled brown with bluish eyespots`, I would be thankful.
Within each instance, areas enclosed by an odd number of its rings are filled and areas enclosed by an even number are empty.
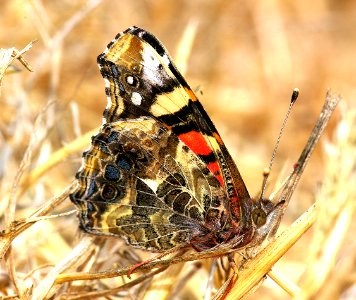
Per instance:
[[[89,233],[164,251],[226,222],[225,193],[216,177],[152,118],[104,125],[83,157],[80,188],[70,197]]]

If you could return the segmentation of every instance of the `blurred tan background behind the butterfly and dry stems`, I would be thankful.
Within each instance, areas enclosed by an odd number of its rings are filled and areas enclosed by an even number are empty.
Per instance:
[[[196,30],[185,78],[199,90],[252,195],[260,190],[262,170],[268,165],[293,88],[300,89],[300,97],[282,138],[271,188],[282,168],[288,172],[297,160],[327,89],[342,94],[348,105],[355,103],[355,1],[3,0],[0,47],[20,49],[32,40],[38,42],[25,54],[34,72],[23,70],[3,82],[1,128],[16,135],[9,131],[11,124],[29,124],[49,99],[56,101],[56,110],[48,115],[55,120],[48,151],[73,140],[80,134],[78,128],[85,133],[99,126],[106,100],[96,57],[118,32],[132,25],[157,36],[173,59],[184,48],[179,43],[187,28]],[[73,126],[77,110],[80,126]],[[338,113],[325,140],[332,138],[337,119]],[[22,127],[15,158],[21,158],[30,131],[30,126]],[[68,185],[79,158],[80,153],[53,170],[51,178],[58,180],[47,184],[43,193]],[[10,164],[16,168],[16,160]],[[286,224],[313,203],[323,178],[319,146],[292,198]],[[306,243],[301,241],[288,255],[302,260]],[[297,276],[301,269],[293,273],[289,275]],[[288,299],[283,291],[277,294]]]

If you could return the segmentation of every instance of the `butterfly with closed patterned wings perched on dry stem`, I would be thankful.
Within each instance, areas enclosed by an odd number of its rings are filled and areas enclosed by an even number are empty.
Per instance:
[[[213,122],[151,33],[119,33],[97,63],[107,106],[70,195],[87,233],[165,252],[260,244],[279,203],[253,199]]]

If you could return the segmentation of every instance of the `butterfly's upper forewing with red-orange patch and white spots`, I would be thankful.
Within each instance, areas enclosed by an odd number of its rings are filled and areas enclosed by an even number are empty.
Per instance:
[[[214,124],[152,34],[130,27],[108,44],[98,56],[98,65],[108,99],[104,122],[139,116],[157,119],[208,166],[236,210],[239,200],[250,199]]]

